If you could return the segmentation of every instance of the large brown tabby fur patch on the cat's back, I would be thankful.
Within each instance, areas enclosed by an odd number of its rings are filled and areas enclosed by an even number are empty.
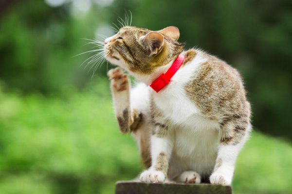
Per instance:
[[[238,71],[215,56],[194,51],[204,62],[195,67],[193,76],[183,86],[187,98],[201,113],[214,120],[227,114],[249,114],[249,103]],[[188,65],[193,64],[185,64],[184,68]]]

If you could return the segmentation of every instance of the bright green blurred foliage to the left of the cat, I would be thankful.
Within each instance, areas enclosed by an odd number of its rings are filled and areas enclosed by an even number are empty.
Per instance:
[[[108,84],[98,82],[62,97],[0,90],[1,194],[110,194],[137,176],[138,148],[117,130]]]

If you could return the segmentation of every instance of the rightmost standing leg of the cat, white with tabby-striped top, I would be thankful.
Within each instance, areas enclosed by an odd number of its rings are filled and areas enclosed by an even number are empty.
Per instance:
[[[221,123],[221,139],[212,184],[231,185],[237,155],[248,138],[251,125],[249,119]]]

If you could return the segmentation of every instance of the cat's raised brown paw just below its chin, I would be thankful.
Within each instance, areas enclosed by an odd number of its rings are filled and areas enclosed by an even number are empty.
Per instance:
[[[123,69],[120,67],[110,69],[108,72],[110,78],[110,84],[114,91],[121,92],[129,88],[129,78],[127,74],[123,73]]]

